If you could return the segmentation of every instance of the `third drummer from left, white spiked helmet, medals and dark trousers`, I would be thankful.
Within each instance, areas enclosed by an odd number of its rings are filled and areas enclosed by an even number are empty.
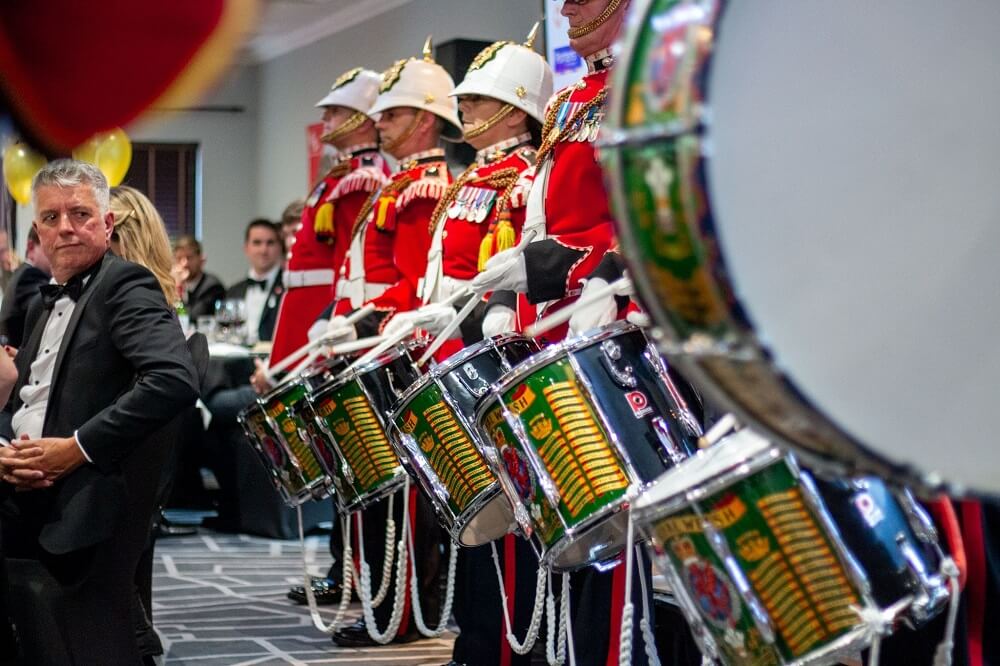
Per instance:
[[[544,105],[552,94],[552,71],[532,50],[536,32],[537,26],[524,45],[504,41],[488,46],[451,93],[458,98],[465,141],[477,150],[476,161],[448,188],[432,218],[431,250],[419,294],[424,305],[394,316],[387,334],[415,324],[437,335],[469,297],[456,305],[440,303],[467,287],[490,257],[520,240]],[[438,360],[478,342],[481,322],[469,317],[455,335],[439,350]],[[527,541],[512,534],[495,546],[505,572],[512,629],[521,640],[531,619],[538,558]],[[527,666],[530,653],[514,653],[504,637],[492,552],[490,545],[458,551],[453,609],[461,632],[452,663]]]

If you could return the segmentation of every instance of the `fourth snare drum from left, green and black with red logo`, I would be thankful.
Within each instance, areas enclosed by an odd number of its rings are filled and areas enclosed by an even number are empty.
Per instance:
[[[484,396],[476,422],[511,502],[531,517],[542,563],[556,570],[621,551],[629,492],[685,459],[701,434],[660,357],[625,322],[516,367]]]

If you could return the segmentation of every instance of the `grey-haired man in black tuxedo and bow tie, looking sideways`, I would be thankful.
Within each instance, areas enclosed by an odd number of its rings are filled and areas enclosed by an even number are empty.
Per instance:
[[[0,528],[24,663],[140,663],[133,578],[166,455],[147,436],[197,397],[155,277],[108,252],[108,196],[101,172],[75,160],[32,185],[53,284],[29,308],[0,412]]]

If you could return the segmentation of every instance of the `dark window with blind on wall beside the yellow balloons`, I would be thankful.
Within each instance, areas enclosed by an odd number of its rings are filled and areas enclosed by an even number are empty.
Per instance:
[[[133,143],[132,164],[122,181],[156,206],[171,240],[195,234],[198,144]]]

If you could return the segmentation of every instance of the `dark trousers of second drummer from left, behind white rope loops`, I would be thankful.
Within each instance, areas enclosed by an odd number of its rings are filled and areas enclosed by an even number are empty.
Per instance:
[[[430,502],[411,487],[410,511],[408,520],[410,530],[413,534],[413,548],[417,565],[417,589],[420,593],[420,608],[423,611],[424,622],[428,626],[436,626],[441,614],[441,597],[444,577],[447,573],[446,554],[444,545],[447,537],[438,524],[434,514],[434,508]],[[382,563],[385,557],[385,530],[386,521],[389,516],[388,500],[381,500],[361,512],[361,520],[364,525],[365,539],[365,559],[371,568],[372,595],[378,591],[379,583],[382,581]],[[399,542],[403,530],[403,495],[396,493],[393,503],[393,516],[396,521],[396,543]],[[355,518],[355,520],[357,520]],[[356,523],[355,523],[356,524]],[[357,533],[352,536],[357,543]],[[395,547],[395,546],[394,546]],[[355,558],[357,558],[357,547],[355,547]],[[397,551],[398,554],[398,551]],[[410,572],[410,564],[407,563],[407,576]],[[375,620],[379,631],[384,631],[389,624],[392,615],[393,603],[395,601],[396,590],[396,563],[393,563],[392,580],[389,583],[389,593],[385,600],[375,608]],[[413,625],[413,616],[410,611],[410,584],[406,584],[406,607],[403,611],[403,620],[399,625],[397,635],[403,635],[416,631]]]

